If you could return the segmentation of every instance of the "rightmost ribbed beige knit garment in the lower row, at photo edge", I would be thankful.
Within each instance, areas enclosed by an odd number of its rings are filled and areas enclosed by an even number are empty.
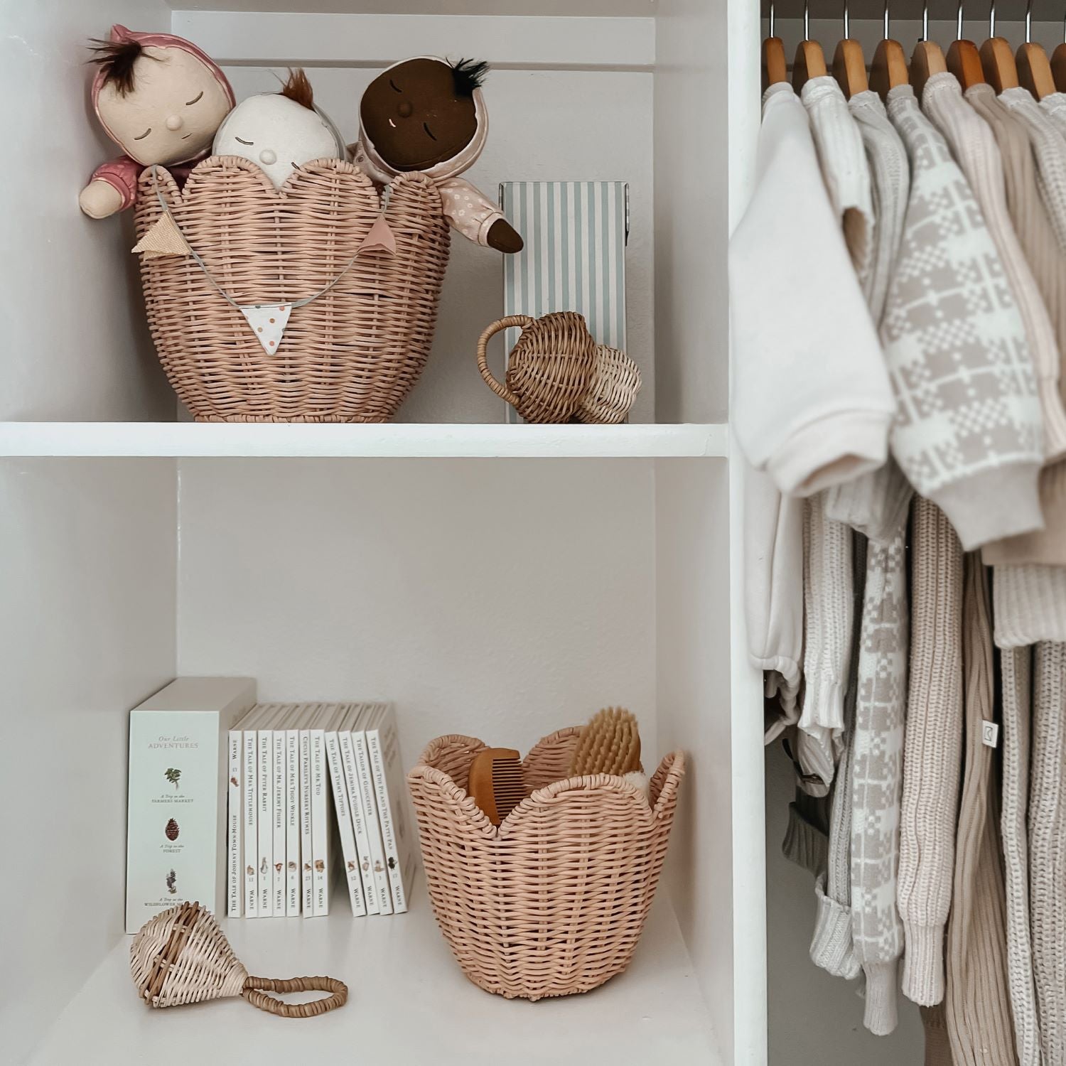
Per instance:
[[[1029,795],[1033,979],[1046,1066],[1066,1063],[1066,644],[1033,660]]]

